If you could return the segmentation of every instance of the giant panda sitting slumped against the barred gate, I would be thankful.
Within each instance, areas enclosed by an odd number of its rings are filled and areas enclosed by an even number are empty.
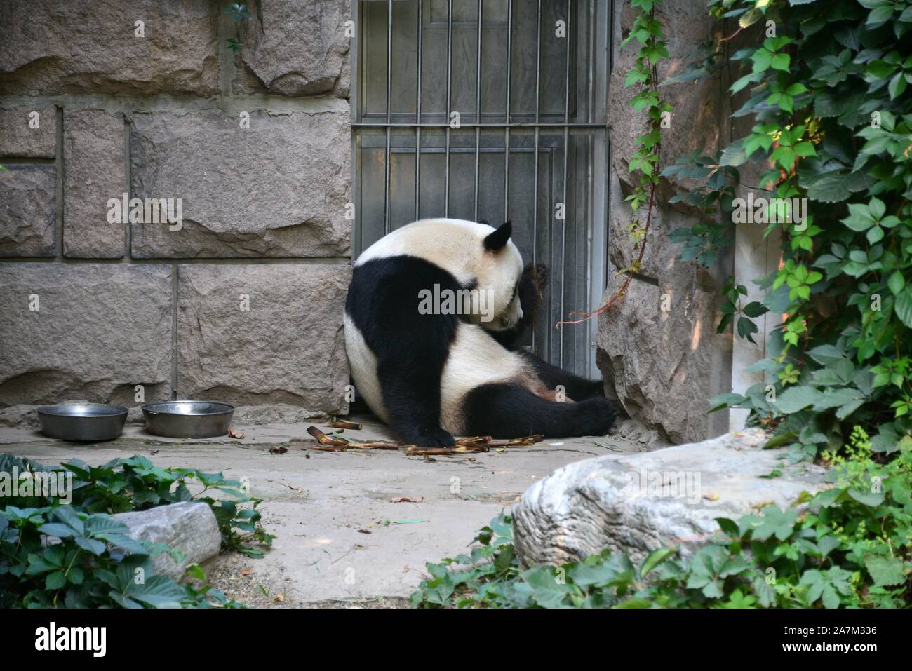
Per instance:
[[[537,308],[544,274],[523,269],[511,234],[510,222],[495,229],[424,219],[390,232],[354,264],[344,316],[352,378],[400,440],[446,447],[454,435],[565,438],[612,427],[615,408],[601,382],[511,348]],[[428,296],[446,290],[478,298],[463,301],[463,314],[446,301],[429,312]]]

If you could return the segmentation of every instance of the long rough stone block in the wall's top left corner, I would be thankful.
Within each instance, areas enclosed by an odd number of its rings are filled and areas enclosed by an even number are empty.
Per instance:
[[[8,0],[0,93],[218,93],[220,11],[208,0]]]

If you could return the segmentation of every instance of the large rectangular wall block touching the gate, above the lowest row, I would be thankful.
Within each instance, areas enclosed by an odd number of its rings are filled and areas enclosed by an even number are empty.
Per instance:
[[[180,198],[182,227],[134,223],[140,258],[347,256],[345,112],[137,113],[132,195]]]

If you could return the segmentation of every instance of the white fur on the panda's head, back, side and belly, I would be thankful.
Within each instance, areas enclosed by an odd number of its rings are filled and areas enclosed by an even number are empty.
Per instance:
[[[509,328],[523,315],[515,295],[523,273],[523,260],[512,240],[498,253],[484,253],[483,240],[494,230],[484,223],[458,219],[425,219],[409,223],[372,244],[358,257],[355,266],[402,255],[424,259],[452,274],[461,284],[473,284],[479,291],[490,291],[493,318],[485,327],[491,330]],[[417,308],[418,296],[402,298],[414,300]],[[473,323],[458,323],[440,379],[440,426],[454,435],[464,433],[463,399],[476,387],[511,382],[536,394],[545,390],[522,356],[503,347],[478,325],[481,315],[472,315],[471,321]],[[349,315],[345,316],[345,338],[358,393],[379,418],[389,423],[377,375],[377,357]]]

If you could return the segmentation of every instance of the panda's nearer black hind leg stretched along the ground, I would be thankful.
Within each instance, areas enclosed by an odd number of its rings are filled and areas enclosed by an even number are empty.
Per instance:
[[[472,436],[545,438],[604,436],[615,422],[615,406],[605,397],[573,402],[546,400],[525,387],[475,387],[463,401],[466,433]]]

